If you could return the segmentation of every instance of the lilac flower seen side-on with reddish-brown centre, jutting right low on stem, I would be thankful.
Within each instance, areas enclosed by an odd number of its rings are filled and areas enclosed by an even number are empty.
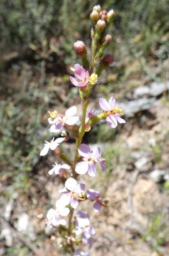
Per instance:
[[[101,206],[106,207],[107,205],[103,204],[103,201],[100,197],[100,194],[98,191],[94,189],[88,189],[86,192],[86,197],[90,200],[95,200],[95,203],[93,204],[93,210],[95,212],[99,212],[101,210]]]

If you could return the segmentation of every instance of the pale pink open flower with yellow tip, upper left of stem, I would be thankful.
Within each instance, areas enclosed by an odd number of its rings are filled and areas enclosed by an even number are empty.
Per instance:
[[[59,132],[64,125],[72,126],[79,121],[79,117],[73,117],[77,113],[77,107],[74,106],[68,109],[64,115],[57,116],[54,120],[48,119],[49,123],[52,124],[50,131]]]

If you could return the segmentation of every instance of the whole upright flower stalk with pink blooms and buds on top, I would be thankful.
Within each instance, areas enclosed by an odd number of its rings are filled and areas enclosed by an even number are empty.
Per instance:
[[[105,49],[111,42],[111,36],[106,34],[106,30],[113,20],[115,14],[113,10],[107,12],[101,10],[100,6],[94,6],[90,14],[92,20],[91,38],[92,38],[92,59],[89,62],[87,50],[84,42],[77,41],[74,43],[74,48],[78,56],[82,60],[82,66],[75,64],[71,70],[74,72],[75,78],[70,77],[71,83],[79,88],[79,94],[82,102],[82,117],[75,116],[77,107],[69,108],[65,115],[58,111],[49,111],[48,122],[51,125],[50,131],[53,133],[62,132],[63,137],[53,139],[44,144],[40,155],[44,156],[49,149],[62,161],[62,164],[52,165],[49,174],[56,174],[64,184],[64,188],[59,190],[61,193],[60,199],[56,202],[56,209],[51,208],[46,216],[47,225],[57,227],[57,230],[62,239],[60,245],[64,246],[65,252],[71,252],[73,256],[88,256],[87,252],[75,251],[75,246],[78,243],[92,245],[92,235],[95,234],[93,227],[90,225],[90,218],[86,212],[76,211],[78,217],[73,219],[75,209],[79,202],[90,200],[93,209],[93,216],[97,216],[101,207],[107,207],[108,201],[101,199],[99,191],[92,188],[85,192],[85,184],[79,183],[78,179],[81,175],[88,173],[89,176],[97,175],[96,168],[100,165],[102,171],[106,171],[105,159],[102,158],[99,147],[90,148],[82,143],[84,133],[89,131],[93,125],[100,124],[101,120],[105,120],[110,128],[116,128],[118,123],[123,124],[125,121],[119,117],[123,115],[122,109],[116,105],[113,97],[110,97],[108,102],[104,98],[99,99],[100,111],[87,111],[87,105],[92,86],[97,83],[97,79],[101,72],[106,69],[114,58],[110,54],[104,54]],[[76,124],[81,122],[80,127]],[[117,123],[118,122],[118,123]],[[71,132],[76,140],[74,159],[71,160],[65,154],[59,144],[66,141],[68,138],[67,132]],[[66,218],[68,218],[68,227],[66,228]],[[65,228],[63,228],[65,227]]]

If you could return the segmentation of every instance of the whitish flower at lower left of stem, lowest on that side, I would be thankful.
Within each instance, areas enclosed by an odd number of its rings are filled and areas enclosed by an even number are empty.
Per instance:
[[[63,203],[61,199],[56,201],[56,210],[50,209],[46,215],[46,218],[48,219],[48,223],[51,222],[53,226],[58,225],[66,225],[65,220],[61,220],[60,216],[67,216],[70,213],[70,209],[68,207],[65,207],[66,205]]]

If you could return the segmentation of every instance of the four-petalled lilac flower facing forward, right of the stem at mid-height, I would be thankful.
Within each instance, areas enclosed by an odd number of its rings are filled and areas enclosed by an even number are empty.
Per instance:
[[[100,156],[100,148],[95,147],[90,150],[89,146],[86,144],[81,144],[79,149],[79,154],[83,156],[83,162],[77,163],[75,167],[75,171],[78,174],[88,174],[92,177],[95,176],[96,168],[94,162],[98,162],[98,158]]]

